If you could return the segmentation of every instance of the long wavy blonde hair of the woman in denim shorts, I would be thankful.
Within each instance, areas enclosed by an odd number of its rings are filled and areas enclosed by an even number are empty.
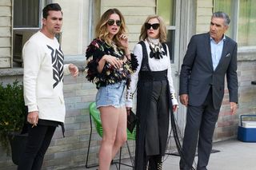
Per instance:
[[[111,14],[118,14],[122,23],[118,31],[118,34],[115,34],[112,40],[110,39],[109,31],[107,30],[107,21],[109,20]],[[118,48],[123,49],[121,43],[119,42],[119,36],[121,34],[126,34],[126,22],[121,12],[116,8],[106,10],[106,12],[102,14],[102,17],[100,18],[96,26],[96,38],[100,38],[101,40],[105,41],[108,45],[111,45],[111,41],[114,41]]]

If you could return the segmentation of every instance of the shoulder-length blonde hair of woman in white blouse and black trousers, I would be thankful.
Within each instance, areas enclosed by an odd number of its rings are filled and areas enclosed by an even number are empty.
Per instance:
[[[141,30],[141,34],[139,35],[139,40],[140,41],[144,41],[148,36],[146,34],[147,30],[145,27],[145,23],[148,23],[150,21],[150,19],[153,18],[157,18],[159,21],[159,42],[166,42],[167,40],[167,31],[166,31],[166,24],[163,21],[162,17],[158,16],[158,15],[150,15],[148,16],[148,18],[146,18],[146,21],[144,22],[144,24],[142,25],[142,30]]]

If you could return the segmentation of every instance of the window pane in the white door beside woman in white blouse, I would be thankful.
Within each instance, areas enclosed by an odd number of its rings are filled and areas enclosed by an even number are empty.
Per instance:
[[[163,18],[166,23],[167,34],[167,45],[170,49],[171,61],[174,62],[174,41],[175,41],[175,14],[176,14],[176,1],[175,0],[161,0],[158,1],[157,13]]]

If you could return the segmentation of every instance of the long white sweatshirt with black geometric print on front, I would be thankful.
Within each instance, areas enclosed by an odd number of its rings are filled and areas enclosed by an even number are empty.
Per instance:
[[[64,122],[63,74],[69,74],[56,38],[40,31],[22,50],[24,62],[24,100],[29,112],[38,111],[39,119]]]

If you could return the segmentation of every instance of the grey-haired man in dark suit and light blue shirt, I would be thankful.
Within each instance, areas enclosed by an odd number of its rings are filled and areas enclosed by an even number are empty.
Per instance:
[[[230,109],[238,103],[237,43],[225,35],[230,18],[223,12],[212,15],[210,32],[190,39],[180,75],[180,101],[187,107],[182,144],[185,160],[181,169],[192,169],[198,143],[197,169],[206,169],[212,138],[225,89],[225,75],[230,95]]]

